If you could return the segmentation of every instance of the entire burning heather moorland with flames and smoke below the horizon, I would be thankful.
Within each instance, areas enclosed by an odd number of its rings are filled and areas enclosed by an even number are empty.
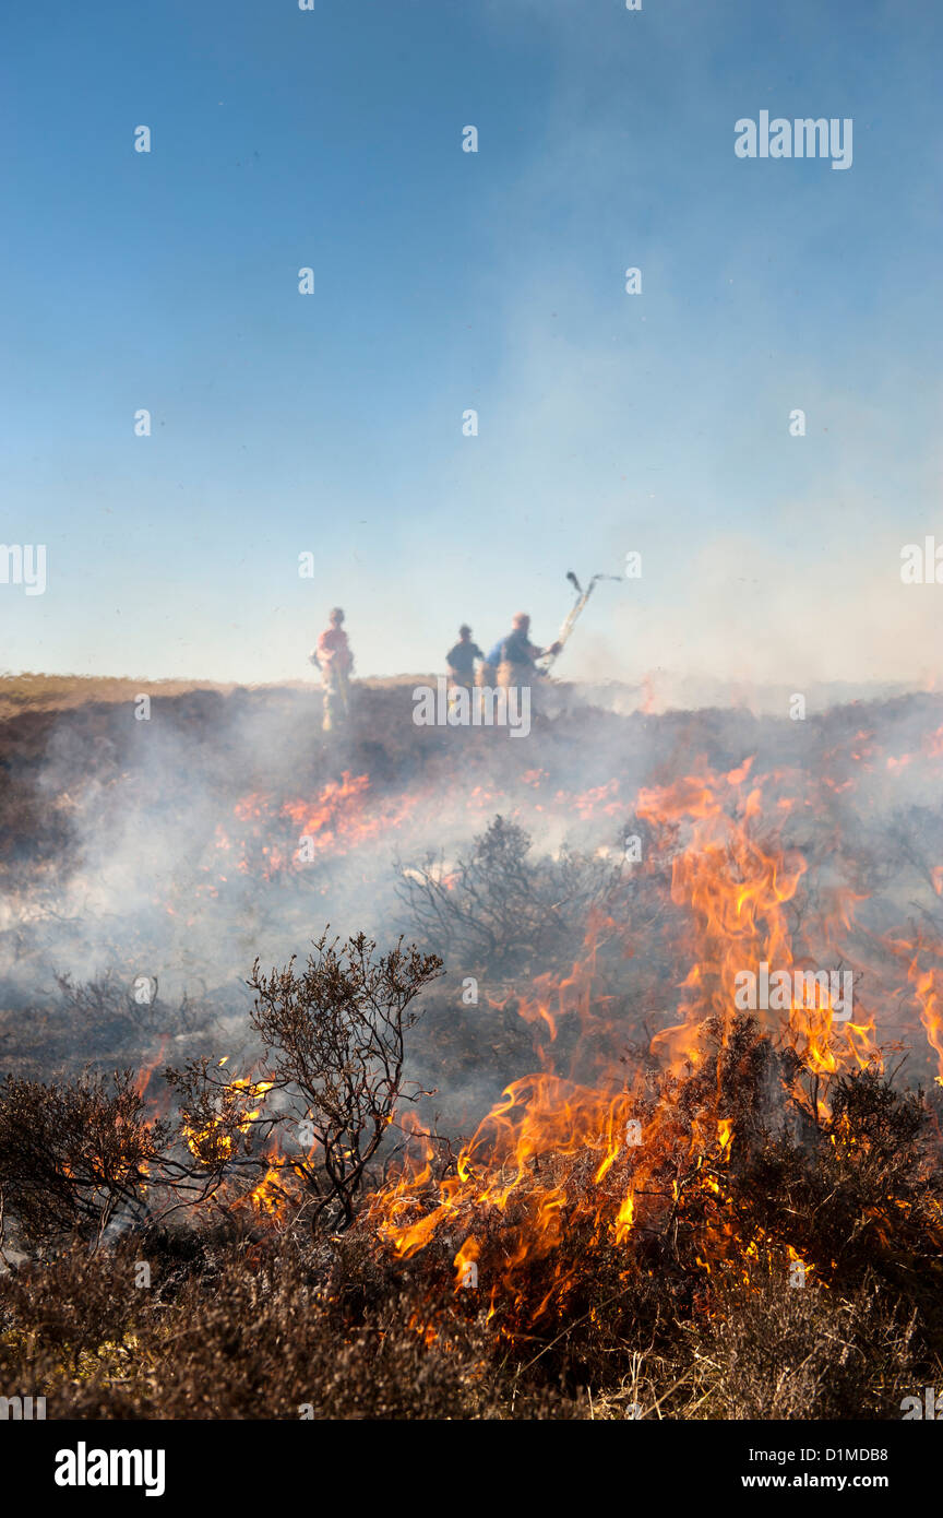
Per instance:
[[[356,700],[5,721],[0,1381],[901,1418],[943,1377],[943,701],[556,686],[509,744]]]

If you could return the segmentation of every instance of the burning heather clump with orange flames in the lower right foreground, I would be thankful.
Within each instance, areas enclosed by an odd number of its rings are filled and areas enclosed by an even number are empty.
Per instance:
[[[403,1278],[414,1287],[423,1280],[426,1299],[441,1298],[440,1324],[485,1312],[531,1384],[611,1390],[638,1383],[643,1357],[649,1397],[663,1407],[681,1371],[679,1387],[703,1389],[703,1368],[694,1371],[706,1351],[700,1343],[691,1360],[691,1336],[725,1324],[731,1362],[755,1339],[752,1390],[738,1377],[735,1403],[722,1377],[708,1378],[702,1416],[858,1416],[852,1381],[855,1395],[870,1387],[875,1415],[890,1416],[881,1400],[887,1356],[902,1375],[943,1348],[934,1113],[919,1094],[861,1070],[834,1082],[831,1111],[813,1114],[796,1075],[796,1057],[776,1052],[744,1019],[728,1035],[713,1025],[685,1078],[647,1070],[644,1105],[629,1105],[625,1091],[603,1102],[561,1081],[531,1090],[520,1082],[450,1176],[381,1192],[367,1222],[403,1261]],[[625,1142],[629,1110],[641,1129],[637,1146]],[[863,1302],[872,1327],[881,1325],[873,1354]],[[804,1334],[819,1336],[814,1374],[794,1380],[790,1395],[779,1386],[766,1410],[743,1412],[761,1387],[770,1392],[773,1366],[791,1374]],[[837,1359],[826,1397],[829,1356]],[[854,1369],[844,1381],[843,1357]],[[655,1374],[659,1365],[667,1369]],[[813,1383],[820,1413],[802,1404]],[[669,1404],[679,1412],[681,1395],[672,1392]],[[843,1412],[828,1410],[837,1404]]]

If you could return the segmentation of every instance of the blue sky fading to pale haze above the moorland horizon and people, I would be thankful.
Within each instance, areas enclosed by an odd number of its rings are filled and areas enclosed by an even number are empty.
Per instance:
[[[0,539],[49,562],[2,668],[299,679],[340,603],[361,672],[434,669],[629,550],[561,674],[938,668],[935,0],[52,0],[0,44]],[[764,109],[852,167],[738,159]]]

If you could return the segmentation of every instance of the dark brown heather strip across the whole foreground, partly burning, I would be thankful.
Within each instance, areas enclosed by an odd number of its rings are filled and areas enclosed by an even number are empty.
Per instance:
[[[810,1113],[794,1076],[744,1019],[649,1081],[647,1158],[603,1167],[570,1091],[569,1145],[472,1142],[340,1236],[67,1249],[0,1278],[0,1366],[53,1416],[898,1416],[943,1351],[935,1114],[869,1070]]]

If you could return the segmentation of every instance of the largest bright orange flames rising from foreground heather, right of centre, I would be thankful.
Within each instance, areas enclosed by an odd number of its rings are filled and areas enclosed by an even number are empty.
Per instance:
[[[669,1076],[696,1070],[706,1058],[703,1031],[719,1026],[720,1041],[734,1025],[735,979],[744,965],[767,961],[791,968],[793,947],[787,906],[796,894],[807,864],[790,849],[760,842],[767,809],[763,786],[750,782],[747,761],[728,774],[688,776],[675,785],[641,792],[635,815],[653,830],[652,858],[672,855],[672,902],[685,909],[691,967],[678,1000],[678,1022],[652,1038]],[[782,818],[791,808],[775,806]],[[641,867],[646,868],[644,865]],[[823,941],[851,926],[854,902],[847,894],[835,903],[834,917],[822,923]],[[593,965],[600,924],[590,926],[587,956],[556,988],[550,1008],[549,988],[541,988],[538,1011],[550,1040],[556,1019],[582,1014],[590,1037]],[[611,921],[605,931],[620,934],[632,952],[632,924]],[[917,994],[920,994],[920,981]],[[922,997],[926,1016],[928,997]],[[525,1002],[523,1016],[534,1017]],[[813,1005],[791,1003],[785,1016],[761,1013],[769,1031],[799,1057],[794,1096],[810,1102],[808,1076],[879,1063],[873,1041],[873,1019],[837,1023],[828,993]],[[938,1037],[938,1008],[934,1008]],[[934,1044],[934,1047],[937,1047]],[[631,1246],[640,1230],[664,1227],[666,1213],[676,1208],[679,1179],[667,1178],[664,1158],[682,1132],[670,1099],[672,1084],[653,1102],[644,1075],[620,1081],[619,1069],[602,1069],[594,1084],[576,1084],[553,1073],[531,1075],[511,1082],[472,1140],[462,1148],[455,1173],[432,1183],[428,1146],[414,1170],[376,1198],[371,1219],[397,1258],[409,1258],[438,1236],[462,1236],[455,1255],[456,1286],[464,1284],[465,1266],[478,1260],[476,1231],[488,1231],[488,1217],[503,1224],[500,1272],[491,1295],[514,1298],[518,1281],[535,1260],[550,1255],[565,1228],[588,1213],[594,1245]],[[688,1178],[711,1202],[717,1254],[729,1254],[734,1233],[732,1198],[725,1184],[731,1146],[729,1119],[706,1110],[694,1122],[691,1158],[696,1173]],[[588,1178],[588,1184],[587,1184]],[[776,1243],[787,1252],[788,1239],[740,1240],[744,1257]],[[797,1258],[797,1255],[791,1255]],[[710,1260],[699,1260],[705,1271]],[[552,1295],[565,1293],[565,1275],[555,1277],[538,1318]]]

